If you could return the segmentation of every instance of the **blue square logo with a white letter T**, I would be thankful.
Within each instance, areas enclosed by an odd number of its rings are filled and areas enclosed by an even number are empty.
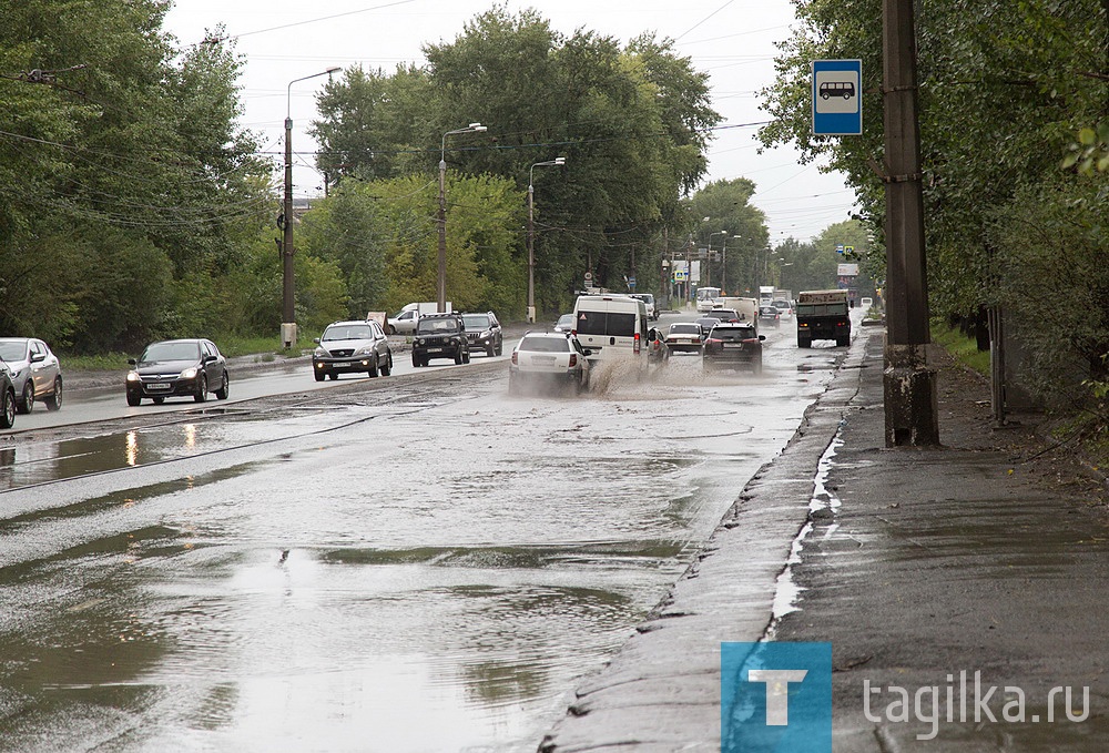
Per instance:
[[[720,644],[721,753],[832,753],[831,643]]]

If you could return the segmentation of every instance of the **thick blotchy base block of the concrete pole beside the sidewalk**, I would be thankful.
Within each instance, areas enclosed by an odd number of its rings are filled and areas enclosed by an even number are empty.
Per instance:
[[[886,345],[883,372],[886,447],[939,445],[936,370],[928,368],[927,345]]]

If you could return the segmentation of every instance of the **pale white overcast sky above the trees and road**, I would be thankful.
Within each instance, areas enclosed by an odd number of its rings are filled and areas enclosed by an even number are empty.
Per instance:
[[[316,118],[315,92],[325,77],[293,84],[334,65],[395,70],[398,63],[423,63],[427,42],[450,42],[466,21],[489,10],[492,0],[176,0],[166,30],[182,44],[196,43],[217,23],[237,37],[246,57],[242,79],[243,125],[262,135],[262,147],[284,150],[286,108],[293,118],[295,194],[319,195],[323,181],[311,170],[316,147],[304,129]],[[709,147],[709,181],[747,177],[757,192],[752,203],[766,214],[771,243],[788,236],[808,241],[832,223],[848,218],[854,192],[842,175],[801,165],[796,153],[779,149],[757,153],[755,128],[767,120],[756,92],[773,80],[774,43],[788,35],[794,21],[791,0],[508,0],[517,13],[535,8],[566,33],[586,28],[621,43],[644,31],[670,37],[693,67],[711,78],[713,106],[722,126]],[[459,113],[459,126],[469,119]],[[487,123],[491,133],[496,123]],[[568,166],[569,169],[569,166]]]

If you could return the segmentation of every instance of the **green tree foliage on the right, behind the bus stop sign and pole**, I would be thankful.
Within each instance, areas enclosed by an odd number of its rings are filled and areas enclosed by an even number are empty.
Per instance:
[[[878,244],[881,11],[878,0],[797,3],[800,23],[763,92],[774,121],[761,133],[766,145],[793,142],[806,160],[844,171]],[[1066,386],[1071,406],[1088,399],[1076,374],[1080,381],[1101,368],[1098,329],[1109,324],[1106,298],[1096,297],[1105,293],[1098,175],[1109,166],[1109,131],[1089,126],[1105,120],[1106,13],[1100,0],[929,0],[916,13],[930,311],[950,319],[1009,308],[1028,349],[1029,384],[1049,401]],[[863,60],[859,138],[811,133],[808,65],[825,58]],[[1069,180],[1075,173],[1087,184]],[[881,245],[873,252],[877,261]],[[865,263],[878,274],[878,264]]]

